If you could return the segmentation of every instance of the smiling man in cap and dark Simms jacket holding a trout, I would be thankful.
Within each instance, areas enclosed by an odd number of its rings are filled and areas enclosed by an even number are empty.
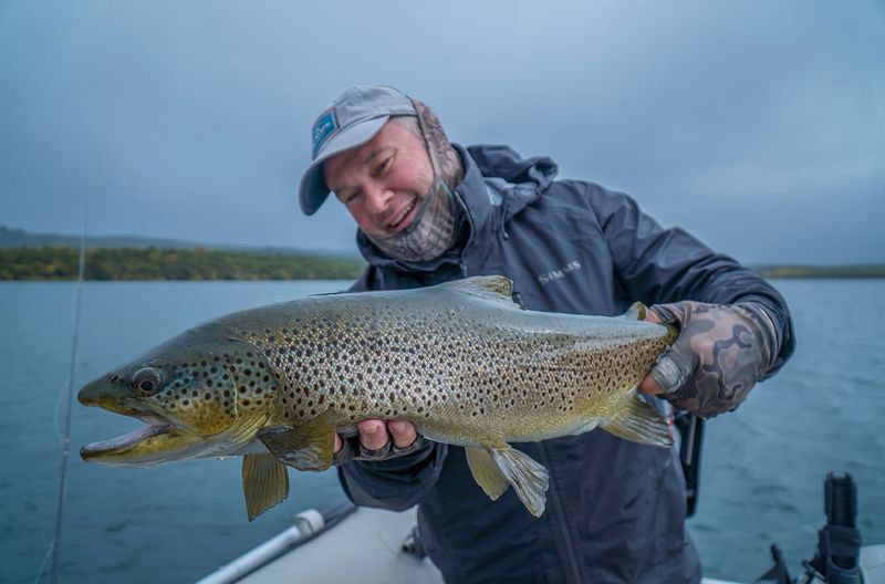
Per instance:
[[[680,334],[641,392],[665,410],[736,408],[793,350],[781,295],[627,196],[556,180],[550,158],[449,143],[423,103],[353,87],[313,127],[300,186],[312,215],[330,191],[358,226],[369,265],[354,290],[433,285],[480,274],[514,282],[538,311],[615,315],[634,301]],[[650,394],[658,394],[650,397]],[[336,437],[342,484],[361,505],[418,504],[430,557],[448,582],[697,582],[685,487],[673,450],[604,431],[517,445],[550,471],[531,517],[510,489],[490,501],[464,449],[424,440],[403,420],[365,420]]]

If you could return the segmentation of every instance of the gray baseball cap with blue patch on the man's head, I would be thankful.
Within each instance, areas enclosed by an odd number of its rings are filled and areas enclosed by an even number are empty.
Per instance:
[[[301,177],[298,200],[313,215],[329,197],[323,163],[375,137],[391,116],[417,116],[405,93],[385,85],[357,85],[342,93],[313,123],[313,161]]]

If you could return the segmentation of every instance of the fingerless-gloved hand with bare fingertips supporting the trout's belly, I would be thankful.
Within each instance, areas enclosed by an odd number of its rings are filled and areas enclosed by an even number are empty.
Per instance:
[[[424,438],[406,420],[366,419],[335,435],[333,465],[351,460],[387,460],[409,455],[420,448]]]

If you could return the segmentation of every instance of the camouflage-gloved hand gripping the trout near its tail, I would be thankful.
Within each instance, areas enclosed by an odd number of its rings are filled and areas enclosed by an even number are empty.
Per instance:
[[[679,336],[652,369],[675,407],[711,417],[738,407],[780,351],[778,331],[760,303],[685,301],[650,307]]]

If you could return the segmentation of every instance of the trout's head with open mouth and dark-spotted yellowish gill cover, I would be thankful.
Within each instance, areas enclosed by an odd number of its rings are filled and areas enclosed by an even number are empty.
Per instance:
[[[215,334],[219,333],[219,334]],[[278,379],[253,344],[204,326],[85,385],[77,399],[146,427],[84,446],[88,462],[149,466],[236,455],[274,407]]]

